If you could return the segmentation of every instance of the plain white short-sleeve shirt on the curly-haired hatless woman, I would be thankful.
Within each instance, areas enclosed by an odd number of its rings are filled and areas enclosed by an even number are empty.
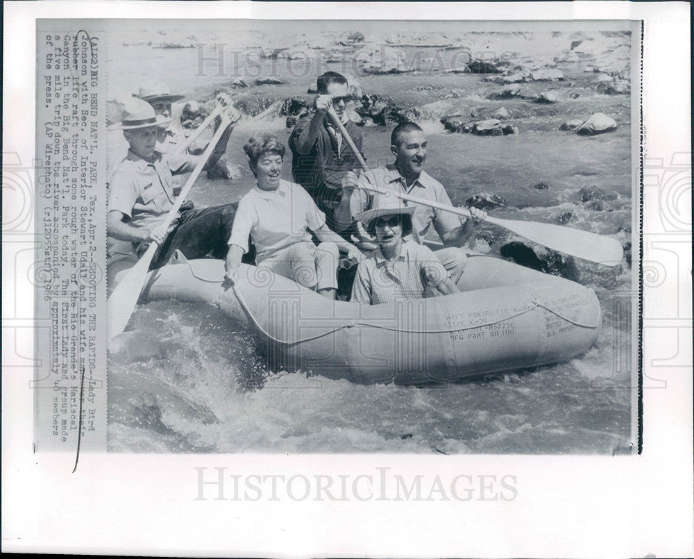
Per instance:
[[[310,241],[307,228],[316,231],[324,224],[325,214],[308,192],[301,185],[280,179],[277,190],[254,186],[239,201],[228,244],[248,252],[250,234],[260,261],[291,244]]]

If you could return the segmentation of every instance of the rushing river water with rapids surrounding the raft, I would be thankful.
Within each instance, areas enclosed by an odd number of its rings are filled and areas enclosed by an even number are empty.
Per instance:
[[[119,35],[110,42],[110,75],[122,77],[112,80],[112,97],[128,88],[137,90],[138,80],[153,72],[172,90],[194,99],[208,98],[215,87],[232,79],[195,77],[196,49],[154,49],[123,42],[128,41]],[[436,52],[425,49],[424,54]],[[555,54],[533,51],[534,56]],[[138,65],[142,60],[147,61],[145,65]],[[633,210],[631,103],[628,94],[596,92],[591,86],[594,74],[584,72],[590,62],[587,55],[580,61],[559,62],[556,67],[564,72],[565,81],[525,86],[555,91],[559,102],[547,106],[523,99],[489,101],[486,94],[500,86],[483,83],[478,74],[359,76],[359,82],[365,93],[392,97],[400,106],[421,110],[421,124],[429,138],[428,172],[446,185],[454,203],[473,194],[498,194],[507,205],[492,210],[493,215],[549,223],[561,217],[568,226],[614,237],[628,248]],[[335,69],[341,69],[339,63]],[[282,65],[277,72],[286,84],[251,84],[242,94],[273,99],[300,96],[315,78],[315,74],[298,72],[289,75]],[[420,90],[431,84],[436,88]],[[519,128],[517,135],[448,133],[439,122],[446,114],[499,106],[523,115],[511,120]],[[558,129],[567,119],[584,119],[595,112],[615,119],[617,131],[582,137]],[[236,201],[253,185],[241,148],[260,127],[283,139],[289,136],[283,117],[262,122],[244,119],[227,152],[242,175],[232,181],[199,178],[189,196],[196,205]],[[391,160],[391,129],[362,129],[370,165]],[[291,176],[290,165],[291,158],[285,157],[285,178]],[[536,188],[539,183],[545,187]],[[608,195],[583,201],[584,187],[598,187]],[[508,240],[514,239],[485,226],[468,246],[498,256]],[[543,249],[535,248],[542,253]],[[636,366],[632,360],[632,268],[629,260],[616,268],[576,264],[570,277],[595,290],[604,315],[598,342],[584,356],[430,387],[364,386],[306,372],[273,371],[255,351],[253,332],[216,308],[177,301],[140,305],[128,326],[134,332],[130,347],[109,357],[108,448],[135,452],[624,451],[632,436],[631,385]]]

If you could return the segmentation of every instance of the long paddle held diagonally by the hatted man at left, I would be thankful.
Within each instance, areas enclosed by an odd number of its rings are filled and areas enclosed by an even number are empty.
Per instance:
[[[208,158],[210,158],[212,150],[217,145],[219,138],[229,124],[230,120],[227,117],[223,117],[219,128],[217,128],[217,132],[215,132],[214,137],[212,137],[212,141],[208,144],[208,147],[205,148],[194,171],[189,176],[183,189],[181,189],[180,194],[178,194],[174,206],[171,207],[169,213],[167,213],[166,217],[162,220],[164,227],[168,227],[178,214],[180,205],[188,195],[196,178],[198,178],[198,175],[202,172],[205,163]],[[139,294],[142,291],[142,285],[144,284],[147,272],[149,272],[149,265],[152,263],[152,258],[154,258],[154,253],[158,246],[156,242],[151,242],[149,244],[147,250],[137,261],[137,264],[130,268],[128,274],[117,285],[115,290],[113,290],[111,297],[108,298],[108,340],[112,340],[113,337],[119,335],[128,325],[130,315],[132,315],[133,310],[135,310],[137,299],[139,299]]]

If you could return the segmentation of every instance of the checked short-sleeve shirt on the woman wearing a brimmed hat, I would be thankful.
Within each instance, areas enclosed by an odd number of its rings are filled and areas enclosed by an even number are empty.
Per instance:
[[[352,301],[380,305],[422,299],[426,287],[438,287],[448,277],[437,256],[423,244],[404,241],[395,260],[386,260],[378,247],[359,262]]]

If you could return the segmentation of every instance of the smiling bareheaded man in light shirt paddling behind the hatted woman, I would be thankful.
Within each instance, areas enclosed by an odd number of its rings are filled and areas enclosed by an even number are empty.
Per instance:
[[[362,212],[373,208],[380,195],[369,189],[402,192],[452,206],[443,185],[424,171],[427,146],[427,138],[417,124],[398,124],[391,133],[390,149],[396,157],[393,165],[371,169],[359,177],[354,172],[348,172],[342,182],[342,199],[336,208],[336,214],[346,213],[358,219]],[[445,247],[434,251],[434,254],[448,270],[454,283],[462,276],[467,263],[467,255],[460,247],[477,223],[486,219],[486,212],[482,210],[470,208],[470,212],[472,217],[461,222],[451,212],[416,204],[412,215],[412,240],[421,244],[430,227],[434,226]],[[373,239],[369,239],[368,235],[364,236],[359,248],[364,248],[364,243],[369,242],[373,242]]]

